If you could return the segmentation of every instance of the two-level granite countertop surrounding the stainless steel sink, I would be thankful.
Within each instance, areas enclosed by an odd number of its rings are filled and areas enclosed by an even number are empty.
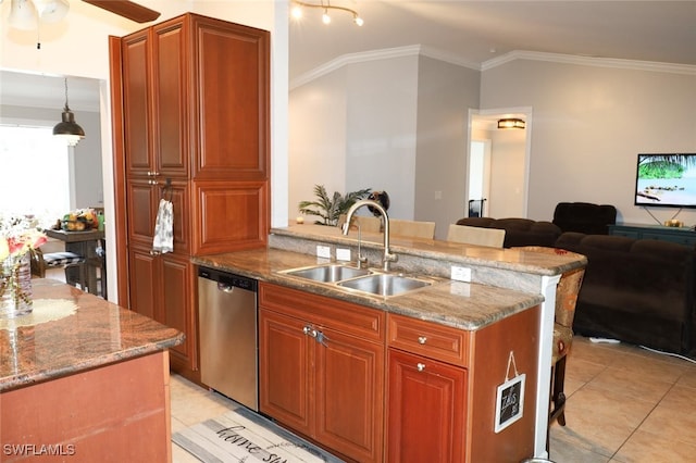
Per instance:
[[[587,264],[584,255],[544,254],[521,249],[497,249],[431,239],[390,237],[391,251],[399,255],[395,272],[436,280],[433,286],[399,296],[378,297],[341,289],[331,284],[288,276],[283,271],[335,261],[337,247],[348,247],[355,256],[358,233],[344,236],[338,227],[293,225],[273,228],[269,247],[192,258],[198,265],[237,273],[261,281],[304,290],[357,304],[398,313],[443,325],[476,330],[509,315],[540,304],[542,277],[552,277]],[[371,266],[380,266],[383,235],[361,234],[362,250]],[[318,245],[332,247],[331,259],[315,256]],[[449,279],[450,265],[471,267],[480,283]],[[486,281],[492,281],[488,284]]]

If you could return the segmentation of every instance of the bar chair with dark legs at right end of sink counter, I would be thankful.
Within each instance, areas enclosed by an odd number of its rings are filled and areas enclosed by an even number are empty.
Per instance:
[[[514,248],[522,251],[540,252],[554,255],[568,255],[582,259],[581,254],[564,249],[546,248],[543,246],[523,246]],[[558,421],[566,426],[566,359],[573,342],[573,318],[577,295],[585,276],[585,267],[573,268],[561,274],[556,287],[556,308],[554,323],[554,351],[551,354],[551,398],[552,410],[549,413],[549,424]]]

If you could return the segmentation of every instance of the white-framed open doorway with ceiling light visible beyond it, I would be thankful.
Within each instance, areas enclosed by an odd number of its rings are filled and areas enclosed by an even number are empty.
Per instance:
[[[525,127],[498,128],[501,118],[519,118]],[[531,108],[470,110],[465,210],[470,200],[485,199],[482,216],[526,217],[531,133]]]

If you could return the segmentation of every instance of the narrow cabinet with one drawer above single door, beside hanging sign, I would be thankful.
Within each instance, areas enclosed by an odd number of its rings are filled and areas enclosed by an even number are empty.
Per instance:
[[[395,314],[388,333],[387,461],[465,461],[469,333]]]

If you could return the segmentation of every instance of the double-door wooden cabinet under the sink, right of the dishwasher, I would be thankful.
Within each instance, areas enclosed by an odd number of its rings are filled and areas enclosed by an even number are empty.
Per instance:
[[[259,287],[261,411],[348,459],[383,460],[384,313]]]

